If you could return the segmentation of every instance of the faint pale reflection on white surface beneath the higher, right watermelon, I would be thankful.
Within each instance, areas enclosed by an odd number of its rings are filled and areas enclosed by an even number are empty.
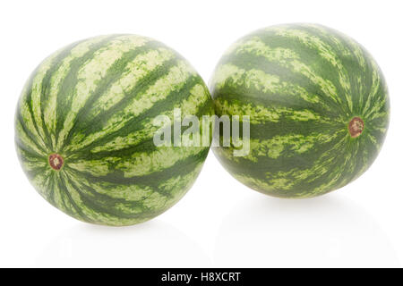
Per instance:
[[[399,266],[386,233],[363,207],[329,194],[304,200],[251,194],[224,218],[216,266]]]

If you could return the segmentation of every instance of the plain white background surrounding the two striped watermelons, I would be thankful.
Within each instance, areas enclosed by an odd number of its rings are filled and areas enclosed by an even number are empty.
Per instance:
[[[0,266],[400,266],[403,261],[401,1],[2,1]],[[244,34],[278,23],[330,26],[363,44],[390,88],[390,130],[372,168],[321,198],[270,198],[233,179],[210,153],[193,189],[132,227],[73,220],[30,186],[13,147],[25,80],[57,48],[134,33],[174,47],[210,79]]]

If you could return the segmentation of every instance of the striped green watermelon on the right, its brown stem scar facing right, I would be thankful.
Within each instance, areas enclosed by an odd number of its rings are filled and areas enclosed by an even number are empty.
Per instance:
[[[280,198],[315,197],[355,180],[380,152],[389,124],[377,63],[355,40],[316,24],[239,39],[210,91],[218,116],[250,116],[250,152],[234,156],[231,145],[214,154],[238,181]]]

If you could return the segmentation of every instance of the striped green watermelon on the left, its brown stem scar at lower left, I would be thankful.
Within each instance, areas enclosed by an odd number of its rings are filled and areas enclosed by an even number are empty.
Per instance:
[[[141,223],[184,196],[209,152],[154,144],[154,119],[175,110],[213,113],[208,88],[174,50],[134,35],[85,39],[30,76],[15,116],[17,153],[35,189],[64,213]]]

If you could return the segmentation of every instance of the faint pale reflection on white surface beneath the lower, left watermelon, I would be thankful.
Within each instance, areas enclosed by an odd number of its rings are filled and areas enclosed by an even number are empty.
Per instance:
[[[49,241],[36,265],[51,267],[197,267],[210,258],[159,219],[130,227],[80,223]]]

